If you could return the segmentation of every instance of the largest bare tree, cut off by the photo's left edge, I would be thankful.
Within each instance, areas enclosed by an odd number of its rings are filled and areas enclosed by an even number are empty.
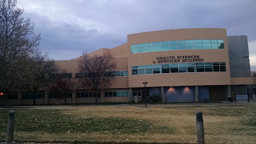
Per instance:
[[[34,23],[22,17],[16,0],[0,0],[0,91],[7,100],[10,91],[26,82],[30,56],[39,46],[40,34],[34,33]]]

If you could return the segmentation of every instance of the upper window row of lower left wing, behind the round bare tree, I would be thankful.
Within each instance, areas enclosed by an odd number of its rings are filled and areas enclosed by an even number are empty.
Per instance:
[[[76,78],[85,78],[91,77],[92,73],[76,73]],[[128,71],[108,71],[104,74],[105,77],[120,77],[120,76],[128,76]]]

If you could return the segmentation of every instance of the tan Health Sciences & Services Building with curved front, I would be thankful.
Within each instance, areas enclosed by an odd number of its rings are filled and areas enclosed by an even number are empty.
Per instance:
[[[127,43],[99,49],[90,55],[111,53],[117,61],[116,80],[98,101],[128,102],[144,94],[160,94],[163,102],[226,101],[236,94],[252,97],[248,40],[227,36],[226,29],[171,29],[127,35]],[[59,76],[76,79],[78,59],[56,61]],[[65,71],[65,73],[61,73]],[[95,95],[94,95],[95,96]],[[94,103],[84,89],[73,89],[67,103]],[[32,104],[31,94],[18,92],[10,104]],[[64,103],[44,90],[37,104]]]

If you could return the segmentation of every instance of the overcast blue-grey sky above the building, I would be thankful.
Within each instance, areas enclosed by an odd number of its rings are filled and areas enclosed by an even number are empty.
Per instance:
[[[251,70],[256,70],[256,0],[104,1],[17,0],[41,33],[40,48],[55,60],[127,43],[138,32],[226,28],[247,35]]]

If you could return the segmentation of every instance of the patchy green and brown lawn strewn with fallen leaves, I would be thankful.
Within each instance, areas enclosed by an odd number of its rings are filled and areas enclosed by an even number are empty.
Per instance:
[[[15,110],[15,142],[197,143],[195,112],[204,113],[206,143],[255,143],[256,104],[79,106],[0,109],[0,142]]]

